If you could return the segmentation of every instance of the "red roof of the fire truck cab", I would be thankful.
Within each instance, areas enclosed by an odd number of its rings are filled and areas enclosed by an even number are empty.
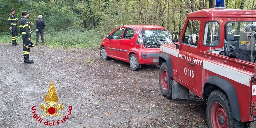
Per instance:
[[[255,17],[255,15],[255,10],[210,8],[190,12],[187,17]]]

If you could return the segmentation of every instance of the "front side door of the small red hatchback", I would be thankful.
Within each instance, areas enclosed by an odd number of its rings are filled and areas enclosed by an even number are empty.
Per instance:
[[[124,28],[125,27],[117,28],[110,35],[110,39],[107,42],[108,55],[120,57],[119,44],[122,41],[122,37],[123,37],[123,33],[124,33]]]

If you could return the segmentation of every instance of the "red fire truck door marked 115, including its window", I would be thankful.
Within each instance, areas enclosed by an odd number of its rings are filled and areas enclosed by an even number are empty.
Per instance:
[[[201,34],[200,18],[191,18],[186,21],[186,29],[182,33],[180,52],[178,56],[178,74],[177,77],[192,88],[196,86],[196,65],[198,62],[199,45]]]

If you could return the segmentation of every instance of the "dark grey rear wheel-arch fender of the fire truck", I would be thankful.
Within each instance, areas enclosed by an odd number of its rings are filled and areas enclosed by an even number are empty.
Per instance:
[[[241,121],[236,89],[229,81],[218,76],[210,76],[204,84],[203,97],[208,97],[212,91],[218,88],[222,89],[227,94],[233,117],[237,121]]]

